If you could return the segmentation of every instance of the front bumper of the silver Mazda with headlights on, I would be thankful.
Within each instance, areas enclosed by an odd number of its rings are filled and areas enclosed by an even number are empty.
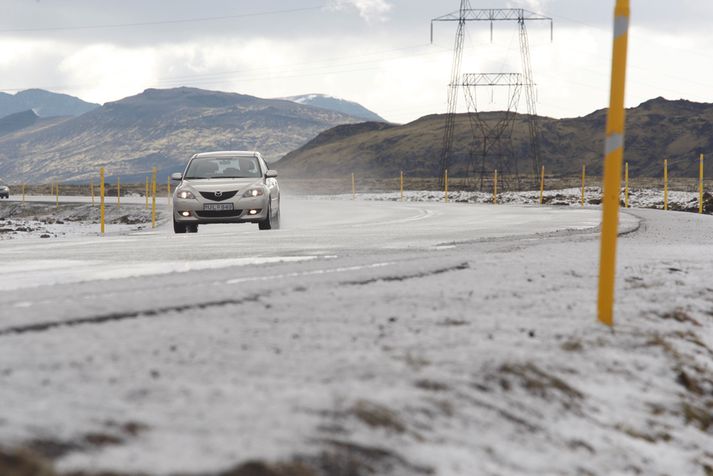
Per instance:
[[[232,210],[206,210],[206,205],[232,204]],[[257,223],[267,218],[268,199],[236,198],[223,202],[173,198],[173,217],[177,223]]]

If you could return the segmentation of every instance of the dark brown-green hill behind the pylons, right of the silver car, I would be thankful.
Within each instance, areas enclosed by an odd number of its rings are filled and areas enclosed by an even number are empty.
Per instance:
[[[503,114],[488,112],[481,117],[493,127]],[[539,120],[541,157],[547,173],[576,175],[581,173],[582,163],[590,174],[602,173],[606,110],[578,118]],[[295,177],[341,177],[354,172],[386,178],[403,170],[411,176],[435,177],[440,174],[444,126],[444,115],[425,116],[402,126],[340,126],[287,154],[280,160],[280,172]],[[661,176],[664,159],[669,159],[672,175],[697,176],[699,154],[713,151],[713,104],[656,98],[629,109],[626,127],[625,159],[632,176]],[[515,116],[512,138],[520,173],[531,174],[526,116]],[[451,176],[471,173],[473,143],[470,118],[460,114],[449,164]],[[708,167],[713,173],[713,166]],[[494,163],[486,163],[488,173],[493,168]]]

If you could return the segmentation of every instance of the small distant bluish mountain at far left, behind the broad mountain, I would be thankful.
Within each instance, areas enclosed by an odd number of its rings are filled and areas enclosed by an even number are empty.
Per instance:
[[[99,107],[67,94],[27,89],[12,95],[0,93],[0,117],[33,110],[39,117],[79,116]]]

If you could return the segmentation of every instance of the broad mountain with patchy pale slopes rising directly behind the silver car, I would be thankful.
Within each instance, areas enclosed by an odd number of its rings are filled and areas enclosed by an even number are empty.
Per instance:
[[[276,160],[325,129],[360,119],[286,100],[195,88],[148,89],[79,117],[0,135],[0,176],[10,181],[143,181],[151,167],[180,171],[196,152],[252,150]]]

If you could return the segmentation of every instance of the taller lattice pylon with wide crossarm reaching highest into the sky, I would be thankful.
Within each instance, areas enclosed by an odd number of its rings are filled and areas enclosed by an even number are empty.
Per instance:
[[[552,18],[537,13],[524,10],[522,8],[487,8],[473,9],[470,0],[461,0],[458,11],[443,15],[431,20],[431,42],[433,42],[433,24],[435,22],[457,22],[455,45],[453,48],[453,65],[451,68],[451,81],[448,85],[448,111],[446,113],[446,126],[443,133],[443,146],[440,155],[441,177],[448,168],[451,149],[453,147],[453,133],[455,130],[456,110],[458,106],[458,87],[460,81],[460,69],[463,60],[463,40],[465,37],[465,26],[468,22],[489,22],[490,38],[493,37],[493,24],[496,21],[515,21],[519,27],[520,58],[522,61],[522,85],[525,89],[527,103],[527,121],[530,135],[530,154],[533,173],[537,174],[540,169],[540,146],[539,146],[539,124],[537,120],[537,97],[535,95],[535,83],[532,78],[532,66],[530,62],[530,45],[527,38],[528,21],[548,21],[550,23],[550,38],[554,33]],[[443,179],[441,178],[441,181]]]

